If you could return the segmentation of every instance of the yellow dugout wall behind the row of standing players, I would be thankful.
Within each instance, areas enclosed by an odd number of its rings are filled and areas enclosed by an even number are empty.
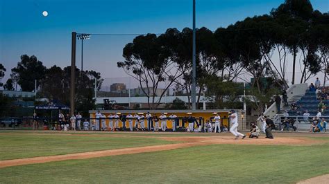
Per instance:
[[[214,117],[214,112],[219,113],[219,116],[221,116],[222,118],[222,123],[223,125],[226,125],[226,127],[230,127],[230,125],[228,125],[228,113],[230,111],[230,109],[211,109],[211,110],[200,110],[200,111],[191,111],[191,110],[90,110],[90,122],[95,121],[95,113],[97,111],[100,111],[102,114],[105,114],[106,117],[108,117],[110,114],[114,114],[114,113],[121,113],[122,115],[128,115],[128,113],[131,113],[132,115],[134,115],[135,113],[144,113],[144,116],[146,116],[146,113],[149,112],[152,114],[152,116],[160,116],[161,113],[168,113],[167,117],[171,115],[171,113],[174,113],[176,116],[178,116],[179,119],[179,124],[178,126],[181,127],[184,123],[183,123],[183,119],[184,117],[187,117],[187,113],[192,113],[192,116],[194,118],[196,118],[196,120],[200,120],[200,118],[203,119],[203,121],[205,122],[205,120],[210,120],[210,118]],[[241,111],[237,110],[238,113],[238,118],[239,121],[241,119]],[[167,128],[168,129],[172,129],[172,125],[170,123],[170,120],[167,120]],[[109,124],[109,119],[106,119],[106,125]],[[147,123],[146,123],[147,124]],[[129,128],[129,124],[126,123],[126,128]],[[133,120],[133,125],[135,125],[135,120]],[[187,127],[188,124],[185,123],[184,127]],[[123,123],[121,121],[119,121],[119,127],[122,127]],[[147,127],[147,125],[146,125]]]

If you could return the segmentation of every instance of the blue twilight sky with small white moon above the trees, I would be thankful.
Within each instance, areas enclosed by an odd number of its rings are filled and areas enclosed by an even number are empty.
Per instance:
[[[196,25],[211,30],[254,15],[263,15],[284,0],[196,0]],[[328,12],[329,0],[311,0]],[[49,12],[48,17],[42,11]],[[71,32],[164,33],[192,27],[192,0],[0,0],[0,63],[7,71],[22,54],[36,55],[45,66],[68,66]],[[124,77],[116,63],[133,36],[92,36],[84,43],[84,69],[103,77]],[[77,42],[80,68],[81,42]],[[3,82],[9,72],[6,73]]]

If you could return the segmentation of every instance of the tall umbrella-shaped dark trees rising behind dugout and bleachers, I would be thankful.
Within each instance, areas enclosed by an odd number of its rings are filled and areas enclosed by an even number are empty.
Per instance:
[[[319,72],[324,73],[325,83],[328,45],[329,14],[314,10],[308,0],[286,0],[267,15],[247,17],[227,28],[215,31],[199,28],[196,30],[197,102],[202,93],[208,93],[218,95],[214,101],[224,104],[228,101],[227,94],[232,93],[226,89],[234,86],[237,79],[246,81],[245,74],[253,78],[248,93],[258,98],[253,100],[255,108],[262,111],[264,102],[277,93],[271,89],[287,89],[288,65],[293,68],[291,84],[306,82]],[[158,36],[137,36],[126,44],[123,57],[124,62],[117,62],[117,66],[140,83],[151,109],[165,95],[164,91],[158,101],[152,95],[160,84],[166,90],[174,87],[178,93],[190,94],[192,29],[168,28]],[[296,79],[297,64],[301,68],[300,79]],[[270,78],[272,86],[262,84],[264,77]]]

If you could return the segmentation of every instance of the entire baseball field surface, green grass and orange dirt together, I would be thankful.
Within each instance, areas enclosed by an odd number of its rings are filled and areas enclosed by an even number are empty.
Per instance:
[[[0,183],[329,182],[329,134],[274,136],[0,131]]]

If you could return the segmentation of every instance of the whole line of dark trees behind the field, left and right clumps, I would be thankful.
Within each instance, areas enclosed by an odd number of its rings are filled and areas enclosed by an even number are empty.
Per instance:
[[[271,95],[287,89],[287,66],[292,66],[291,84],[306,82],[319,72],[326,82],[328,68],[329,15],[314,10],[308,0],[286,0],[267,15],[247,17],[226,28],[196,30],[197,102],[205,95],[213,108],[241,107],[242,84],[250,83],[247,93],[255,109],[263,110]],[[168,28],[161,35],[140,35],[123,48],[123,62],[117,62],[128,75],[140,83],[155,109],[169,88],[185,94],[190,101],[192,82],[192,29]],[[296,65],[301,78],[296,79]],[[39,95],[69,104],[71,67],[43,66],[37,57],[22,55],[12,68],[5,89],[33,91],[35,80]],[[0,64],[0,77],[6,68]],[[252,80],[247,81],[251,76]],[[76,68],[76,107],[94,109],[93,88],[101,74]],[[158,89],[165,90],[155,97]],[[188,103],[189,104],[189,103]],[[188,108],[188,107],[187,107]]]

